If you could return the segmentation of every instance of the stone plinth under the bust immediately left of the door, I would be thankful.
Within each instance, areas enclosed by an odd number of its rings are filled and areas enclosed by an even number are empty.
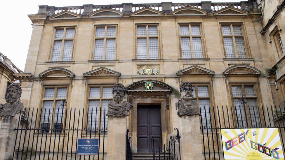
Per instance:
[[[126,116],[108,119],[107,160],[126,159]]]

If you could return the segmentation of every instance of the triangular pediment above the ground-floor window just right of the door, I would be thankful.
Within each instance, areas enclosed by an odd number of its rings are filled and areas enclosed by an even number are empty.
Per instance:
[[[176,73],[177,75],[214,75],[215,72],[201,66],[193,65]]]

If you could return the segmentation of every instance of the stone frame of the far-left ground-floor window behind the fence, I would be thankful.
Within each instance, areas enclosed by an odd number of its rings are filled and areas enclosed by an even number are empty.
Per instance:
[[[46,89],[47,88],[55,88],[55,92],[54,92],[54,98],[52,98],[52,99],[46,99],[46,98],[44,98],[45,97],[45,93],[46,93]],[[55,96],[57,95],[57,90],[58,90],[58,88],[66,88],[66,97],[65,97],[65,104],[66,104],[66,106],[67,106],[67,102],[68,102],[68,96],[69,96],[69,85],[47,85],[47,86],[44,86],[44,89],[43,89],[43,92],[42,92],[42,100],[41,100],[41,110],[42,110],[42,113],[40,112],[40,110],[39,110],[39,117],[42,117],[42,114],[44,114],[44,101],[53,101],[53,110],[51,110],[50,111],[50,114],[52,114],[51,115],[51,119],[50,119],[50,128],[49,128],[49,130],[48,130],[48,132],[47,133],[49,133],[49,134],[54,134],[55,132],[53,132],[53,131],[51,131],[51,129],[53,129],[53,120],[54,120],[54,116],[55,116],[55,103],[56,103],[56,101],[61,101],[61,100],[63,100],[62,98],[55,98]],[[46,111],[46,112],[48,112],[48,111]],[[65,110],[65,112],[66,112],[66,110]],[[63,113],[63,117],[62,117],[62,128],[64,129],[65,128],[65,123],[64,123],[64,119],[65,118],[67,118],[67,117],[64,117],[66,114],[65,114],[65,112]],[[48,113],[46,113],[47,115],[48,115]],[[41,122],[42,122],[42,118],[40,118],[39,119],[39,123],[40,123],[40,126],[41,126]],[[42,131],[39,131],[39,132],[42,132]],[[62,133],[63,131],[61,131],[61,133]],[[46,132],[42,132],[42,133],[46,133]],[[57,132],[57,133],[59,133],[59,132]]]

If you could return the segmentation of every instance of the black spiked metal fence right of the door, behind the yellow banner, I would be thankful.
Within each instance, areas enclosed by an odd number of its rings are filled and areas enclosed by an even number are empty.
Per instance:
[[[248,114],[242,113],[241,106],[206,107],[200,106],[203,157],[205,160],[224,159],[221,129],[277,128],[284,154],[284,105],[250,106]],[[252,108],[256,108],[252,110]],[[208,110],[208,113],[205,112]],[[282,150],[280,148],[280,150]]]

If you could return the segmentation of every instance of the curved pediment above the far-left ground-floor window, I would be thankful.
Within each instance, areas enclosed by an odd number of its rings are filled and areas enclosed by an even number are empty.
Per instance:
[[[40,78],[73,78],[75,75],[65,68],[51,68],[39,74]]]

